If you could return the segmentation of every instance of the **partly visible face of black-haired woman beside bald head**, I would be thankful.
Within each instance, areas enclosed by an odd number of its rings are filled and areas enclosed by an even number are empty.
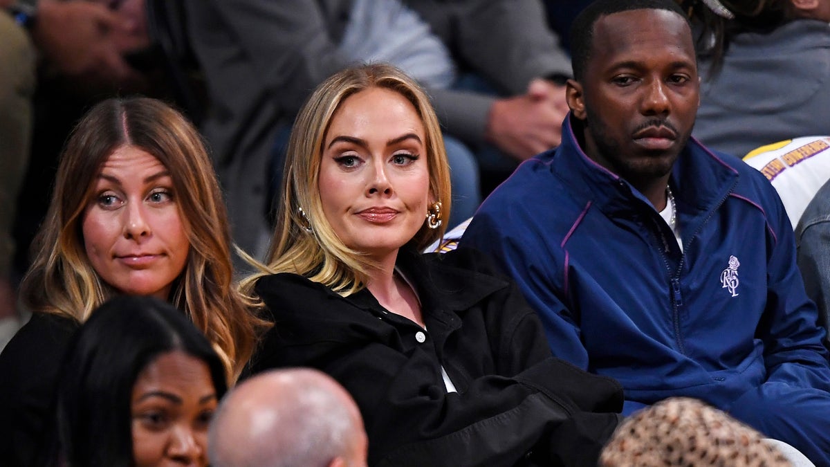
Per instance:
[[[164,353],[139,373],[129,404],[136,467],[207,465],[207,427],[217,396],[204,361]]]

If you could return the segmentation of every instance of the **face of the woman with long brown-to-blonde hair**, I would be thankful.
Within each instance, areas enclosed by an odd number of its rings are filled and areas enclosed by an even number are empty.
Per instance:
[[[122,293],[168,300],[190,242],[167,168],[144,150],[121,146],[92,183],[81,228],[92,268]]]

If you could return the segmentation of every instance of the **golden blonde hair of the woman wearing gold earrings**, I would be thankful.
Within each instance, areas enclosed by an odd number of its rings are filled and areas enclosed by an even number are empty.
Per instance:
[[[242,281],[242,290],[246,293],[252,293],[258,278],[273,273],[299,274],[343,296],[365,287],[368,271],[375,265],[334,234],[323,212],[319,183],[323,145],[334,114],[349,96],[370,88],[397,92],[412,102],[422,120],[426,133],[429,188],[442,204],[444,222],[438,229],[429,229],[425,223],[410,243],[422,249],[442,238],[450,214],[450,169],[441,126],[427,93],[394,66],[381,63],[354,66],[339,71],[317,86],[295,120],[286,152],[280,191],[282,199],[267,264],[257,265],[261,272]],[[300,208],[305,216],[300,214]],[[307,232],[306,227],[310,227],[311,232]]]

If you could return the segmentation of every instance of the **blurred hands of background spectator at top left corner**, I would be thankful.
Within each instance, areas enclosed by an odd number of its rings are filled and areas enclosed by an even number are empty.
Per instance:
[[[138,79],[122,57],[134,25],[95,2],[41,0],[32,37],[51,66],[95,84]]]

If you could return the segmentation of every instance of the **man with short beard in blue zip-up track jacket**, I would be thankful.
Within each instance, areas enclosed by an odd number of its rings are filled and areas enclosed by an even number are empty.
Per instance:
[[[554,354],[729,410],[830,465],[830,366],[772,186],[690,137],[700,84],[670,0],[600,0],[572,28],[563,142],[481,206],[461,246],[492,253]]]

